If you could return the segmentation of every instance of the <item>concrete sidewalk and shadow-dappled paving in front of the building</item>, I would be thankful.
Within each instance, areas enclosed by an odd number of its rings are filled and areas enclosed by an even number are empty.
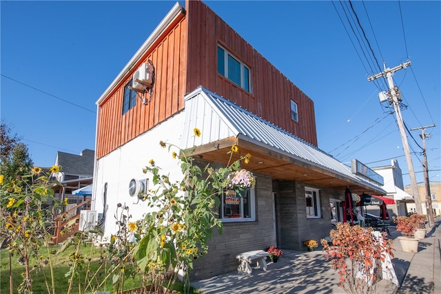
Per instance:
[[[390,228],[396,249],[391,258],[400,287],[388,280],[380,280],[377,293],[441,293],[440,218],[420,240],[418,253],[403,252],[396,239],[401,235]],[[396,239],[396,240],[395,240]],[[253,269],[252,275],[236,271],[207,280],[193,282],[192,286],[204,294],[222,293],[345,293],[337,283],[339,275],[320,250],[284,250],[276,263],[269,262],[267,271]]]

